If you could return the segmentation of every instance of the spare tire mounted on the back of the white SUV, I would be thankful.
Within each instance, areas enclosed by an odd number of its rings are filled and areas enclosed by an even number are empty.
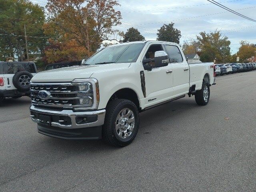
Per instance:
[[[30,90],[30,80],[33,75],[28,71],[19,71],[14,74],[12,83],[19,92],[27,92]]]

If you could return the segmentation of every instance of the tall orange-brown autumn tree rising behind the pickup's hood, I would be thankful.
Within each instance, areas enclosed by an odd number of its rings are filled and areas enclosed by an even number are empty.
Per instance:
[[[76,47],[87,50],[84,56],[89,57],[116,32],[112,26],[121,24],[114,6],[120,6],[116,0],[49,0],[44,33],[54,37],[56,44],[76,41]]]

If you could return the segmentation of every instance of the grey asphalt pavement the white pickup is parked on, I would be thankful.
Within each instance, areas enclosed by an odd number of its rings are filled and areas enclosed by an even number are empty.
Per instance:
[[[38,134],[29,98],[0,106],[0,191],[256,191],[256,71],[217,77],[210,102],[140,114],[134,142]]]

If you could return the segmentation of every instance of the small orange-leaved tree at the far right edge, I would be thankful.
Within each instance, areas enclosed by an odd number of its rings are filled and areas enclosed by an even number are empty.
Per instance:
[[[256,55],[256,47],[254,44],[250,44],[246,41],[241,41],[240,45],[241,46],[237,53],[237,56],[240,57],[240,60],[245,62],[248,58],[251,58],[252,56]]]

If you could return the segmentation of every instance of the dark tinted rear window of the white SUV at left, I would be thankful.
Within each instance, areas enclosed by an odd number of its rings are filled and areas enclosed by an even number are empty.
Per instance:
[[[29,62],[5,62],[3,64],[3,74],[15,74],[19,71],[36,73],[36,68],[33,63]]]

